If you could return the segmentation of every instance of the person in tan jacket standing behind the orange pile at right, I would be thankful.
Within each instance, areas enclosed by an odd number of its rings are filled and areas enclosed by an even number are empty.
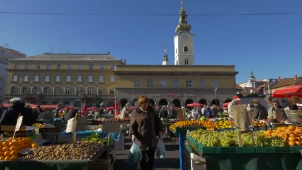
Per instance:
[[[283,108],[280,108],[280,104],[278,100],[272,101],[273,107],[271,107],[268,111],[268,119],[274,119],[277,122],[282,122],[287,119],[286,112]]]

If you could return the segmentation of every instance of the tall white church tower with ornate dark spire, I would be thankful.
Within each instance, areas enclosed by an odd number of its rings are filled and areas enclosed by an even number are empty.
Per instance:
[[[194,35],[190,33],[191,25],[187,23],[187,14],[181,2],[179,24],[176,26],[174,36],[174,62],[175,65],[194,65]]]

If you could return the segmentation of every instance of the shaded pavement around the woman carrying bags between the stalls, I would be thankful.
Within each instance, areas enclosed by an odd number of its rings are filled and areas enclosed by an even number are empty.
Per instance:
[[[179,169],[179,151],[178,146],[172,145],[171,139],[165,138],[163,140],[165,149],[167,151],[167,157],[164,159],[158,159],[155,156],[154,166],[155,170],[180,170]],[[135,167],[127,164],[128,152],[132,145],[129,138],[125,140],[125,150],[115,151],[116,162],[114,164],[114,170],[134,170]],[[190,154],[186,154],[185,158],[185,170],[191,170]],[[194,168],[195,169],[195,168]],[[201,170],[196,167],[196,170]]]

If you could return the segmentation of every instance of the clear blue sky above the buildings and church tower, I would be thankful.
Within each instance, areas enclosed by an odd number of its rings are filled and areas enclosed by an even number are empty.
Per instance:
[[[0,12],[178,14],[180,0],[3,0]],[[235,65],[237,83],[302,76],[302,15],[190,16],[203,13],[301,12],[302,0],[184,0],[199,65]],[[173,60],[178,16],[0,14],[0,45],[28,56],[106,53],[128,64]]]

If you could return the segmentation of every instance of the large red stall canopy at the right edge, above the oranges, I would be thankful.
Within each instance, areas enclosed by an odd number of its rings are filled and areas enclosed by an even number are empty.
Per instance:
[[[278,89],[272,93],[272,97],[276,98],[290,98],[291,96],[298,96],[299,98],[302,98],[302,85]]]

